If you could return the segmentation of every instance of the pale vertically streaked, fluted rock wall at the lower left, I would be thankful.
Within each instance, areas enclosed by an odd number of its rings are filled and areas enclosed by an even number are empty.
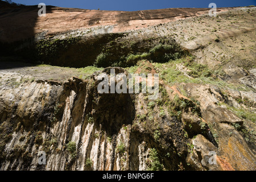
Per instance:
[[[94,79],[1,88],[1,170],[147,169],[150,148],[159,143],[133,125],[135,102],[141,101],[132,94],[99,95]],[[70,141],[76,143],[75,157],[67,150]],[[175,152],[171,138],[166,145]],[[47,165],[38,164],[39,151],[46,152]],[[174,153],[170,159],[168,169],[177,169],[181,158]]]

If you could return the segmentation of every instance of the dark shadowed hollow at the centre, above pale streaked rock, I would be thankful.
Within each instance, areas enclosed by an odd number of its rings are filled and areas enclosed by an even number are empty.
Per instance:
[[[110,69],[115,69],[115,74],[127,72],[123,68],[109,67],[105,68],[101,73],[110,75]],[[109,136],[117,135],[123,125],[131,125],[135,118],[134,95],[127,93],[98,93],[97,87],[101,82],[97,80],[94,73],[93,80],[87,87],[85,113],[88,122],[95,122],[96,126],[102,126],[102,130],[106,131]],[[116,86],[117,82],[115,82]],[[110,90],[110,87],[109,87]]]

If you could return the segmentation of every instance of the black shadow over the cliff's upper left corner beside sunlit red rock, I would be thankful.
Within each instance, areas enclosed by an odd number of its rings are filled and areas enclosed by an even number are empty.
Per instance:
[[[46,6],[46,14],[52,12],[52,7]],[[38,5],[19,6],[0,1],[0,61],[20,61],[24,55],[30,53],[24,47],[34,45],[35,26],[40,9]],[[1,63],[0,69],[3,68]]]

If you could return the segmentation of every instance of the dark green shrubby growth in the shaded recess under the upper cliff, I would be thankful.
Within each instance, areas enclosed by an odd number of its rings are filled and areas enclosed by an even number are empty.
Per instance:
[[[130,42],[119,41],[117,38],[104,46],[94,65],[96,67],[130,67],[143,59],[164,63],[187,54],[188,52],[178,46],[173,39],[166,36]]]

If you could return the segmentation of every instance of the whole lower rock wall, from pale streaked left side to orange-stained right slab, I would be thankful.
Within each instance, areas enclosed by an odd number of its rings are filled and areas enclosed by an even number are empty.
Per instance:
[[[216,88],[181,85],[199,105],[160,82],[158,100],[150,101],[142,93],[99,94],[99,74],[2,85],[0,169],[255,170],[253,144],[231,125],[243,122],[216,106],[223,98]],[[46,152],[46,165],[38,163],[39,151]]]

